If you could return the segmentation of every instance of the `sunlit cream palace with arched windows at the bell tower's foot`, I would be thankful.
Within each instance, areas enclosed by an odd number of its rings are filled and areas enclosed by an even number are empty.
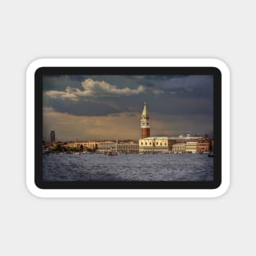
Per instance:
[[[146,137],[139,140],[139,153],[168,153],[168,137]]]

